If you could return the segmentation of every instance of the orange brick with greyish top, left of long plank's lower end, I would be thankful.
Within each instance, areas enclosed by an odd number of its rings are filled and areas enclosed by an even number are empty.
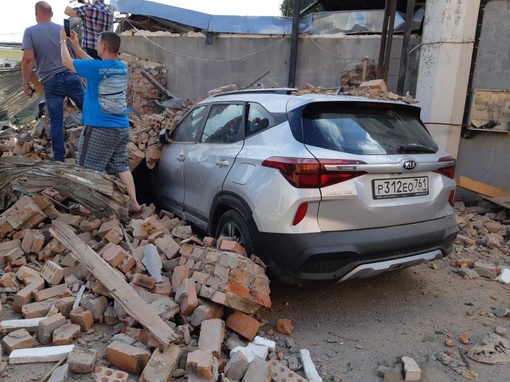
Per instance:
[[[113,341],[106,348],[106,358],[113,366],[133,374],[143,371],[150,356],[147,350],[120,341]]]

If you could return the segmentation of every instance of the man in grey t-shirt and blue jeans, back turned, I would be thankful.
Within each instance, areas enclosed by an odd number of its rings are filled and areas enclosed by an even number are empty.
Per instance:
[[[34,69],[42,83],[44,98],[50,118],[50,138],[53,160],[63,162],[64,145],[64,98],[69,97],[83,108],[84,87],[81,77],[67,69],[60,55],[61,25],[51,21],[53,12],[46,1],[35,3],[36,25],[25,29],[21,49],[21,74],[23,91],[32,96],[30,77]]]

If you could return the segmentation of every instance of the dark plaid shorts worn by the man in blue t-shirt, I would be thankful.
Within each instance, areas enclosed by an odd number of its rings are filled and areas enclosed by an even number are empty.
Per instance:
[[[78,146],[78,165],[108,174],[129,171],[129,128],[85,125]]]

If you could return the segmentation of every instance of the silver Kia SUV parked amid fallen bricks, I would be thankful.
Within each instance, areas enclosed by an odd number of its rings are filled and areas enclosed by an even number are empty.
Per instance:
[[[211,96],[163,130],[159,207],[235,237],[291,283],[448,255],[455,159],[438,149],[420,108],[296,90]]]

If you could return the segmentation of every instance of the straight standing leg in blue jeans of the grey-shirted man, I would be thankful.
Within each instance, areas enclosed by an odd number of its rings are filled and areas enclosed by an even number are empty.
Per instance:
[[[50,117],[50,138],[53,160],[63,162],[66,149],[64,146],[64,96],[62,94],[63,81],[52,78],[44,87],[44,98]]]

